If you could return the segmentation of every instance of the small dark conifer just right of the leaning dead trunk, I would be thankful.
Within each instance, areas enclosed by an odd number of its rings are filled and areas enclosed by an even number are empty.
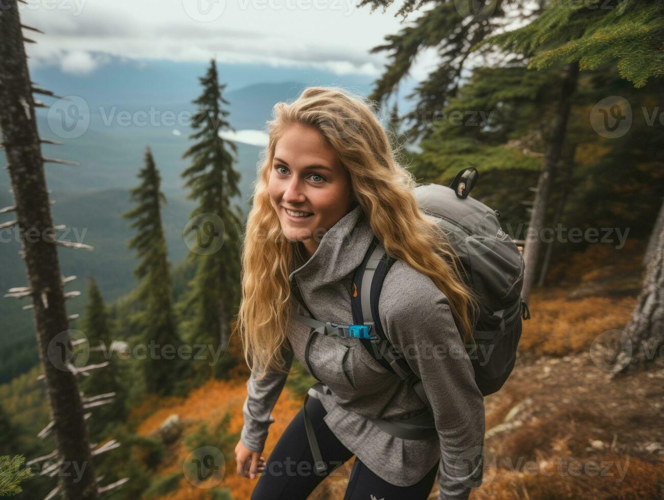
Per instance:
[[[102,293],[94,278],[90,278],[88,285],[88,305],[84,315],[84,333],[90,345],[88,363],[100,364],[108,361],[108,365],[96,370],[81,382],[83,393],[88,397],[115,392],[112,402],[95,407],[92,418],[88,421],[90,438],[100,441],[105,436],[104,430],[111,422],[122,422],[127,415],[125,406],[126,391],[122,386],[120,360],[113,357],[116,344],[110,329],[110,321],[104,305]]]

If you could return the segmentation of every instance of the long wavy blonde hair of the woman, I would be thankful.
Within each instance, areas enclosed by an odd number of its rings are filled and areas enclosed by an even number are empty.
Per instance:
[[[432,279],[448,298],[463,339],[472,342],[478,297],[465,286],[444,231],[420,212],[413,193],[416,181],[398,161],[398,147],[376,118],[376,109],[375,102],[348,90],[309,87],[294,102],[276,104],[274,119],[267,122],[270,139],[244,234],[242,299],[234,329],[240,332],[244,359],[259,380],[268,371],[287,373],[282,348],[291,312],[288,278],[297,250],[296,243],[283,237],[268,180],[277,141],[294,124],[315,127],[323,135],[349,172],[353,199],[387,254]]]

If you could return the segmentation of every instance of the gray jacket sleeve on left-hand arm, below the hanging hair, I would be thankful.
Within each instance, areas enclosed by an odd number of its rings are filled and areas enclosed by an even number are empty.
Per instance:
[[[282,345],[285,368],[290,371],[293,363],[293,350],[287,340]],[[279,399],[288,373],[268,372],[262,380],[256,380],[252,371],[247,382],[247,397],[242,406],[244,425],[240,433],[242,444],[249,450],[260,452],[268,438],[268,428],[274,424],[272,410]]]

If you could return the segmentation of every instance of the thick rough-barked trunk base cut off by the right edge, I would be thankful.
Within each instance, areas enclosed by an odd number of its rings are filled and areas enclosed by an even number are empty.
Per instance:
[[[664,347],[664,228],[659,228],[659,236],[655,239],[657,244],[645,269],[637,306],[625,328],[631,349],[621,349],[618,353],[616,365],[624,367],[612,376],[643,368],[661,355]]]

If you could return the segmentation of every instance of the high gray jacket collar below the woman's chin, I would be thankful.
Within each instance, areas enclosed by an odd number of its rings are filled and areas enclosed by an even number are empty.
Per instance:
[[[293,282],[297,276],[300,283],[311,283],[314,289],[338,282],[362,263],[373,238],[371,225],[362,208],[355,205],[323,234],[309,260],[303,262],[297,249],[293,252],[295,270],[288,279]]]

